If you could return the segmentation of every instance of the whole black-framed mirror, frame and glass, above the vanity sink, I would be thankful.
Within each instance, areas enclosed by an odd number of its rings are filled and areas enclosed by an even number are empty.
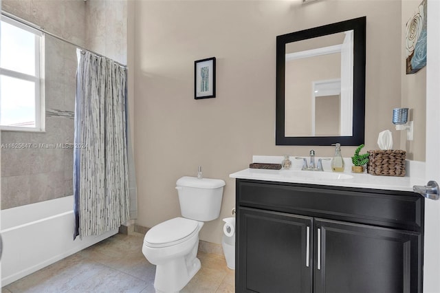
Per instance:
[[[364,143],[366,17],[276,37],[276,145]]]

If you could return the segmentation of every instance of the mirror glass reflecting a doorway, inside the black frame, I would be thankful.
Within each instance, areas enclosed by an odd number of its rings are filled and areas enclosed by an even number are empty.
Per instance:
[[[323,38],[285,44],[286,136],[353,135],[353,30]],[[324,103],[327,111],[318,115],[318,96],[338,98],[320,98],[319,104]]]

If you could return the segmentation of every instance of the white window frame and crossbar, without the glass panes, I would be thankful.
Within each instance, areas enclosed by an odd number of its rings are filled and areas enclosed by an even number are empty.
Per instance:
[[[44,34],[29,25],[10,19],[9,17],[1,16],[1,21],[14,25],[17,28],[31,32],[35,35],[35,76],[30,74],[23,74],[15,72],[14,70],[0,67],[0,74],[21,80],[27,80],[35,84],[35,127],[18,127],[0,125],[1,131],[45,131],[45,60],[44,60]]]

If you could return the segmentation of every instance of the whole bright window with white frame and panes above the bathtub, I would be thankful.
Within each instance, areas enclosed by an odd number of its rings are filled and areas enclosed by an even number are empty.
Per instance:
[[[43,34],[1,17],[0,127],[44,131]]]

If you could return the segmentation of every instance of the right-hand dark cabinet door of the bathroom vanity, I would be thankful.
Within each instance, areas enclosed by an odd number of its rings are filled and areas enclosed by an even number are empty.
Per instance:
[[[314,291],[421,292],[421,235],[315,219]]]

